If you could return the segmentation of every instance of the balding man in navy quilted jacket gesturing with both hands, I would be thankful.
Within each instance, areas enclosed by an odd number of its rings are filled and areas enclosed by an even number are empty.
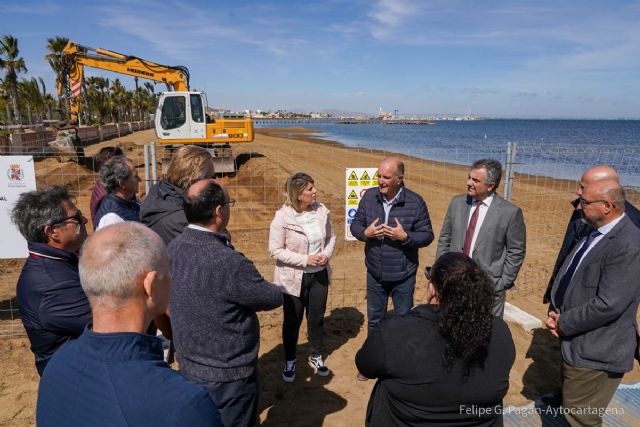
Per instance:
[[[387,312],[389,295],[396,314],[413,307],[418,249],[433,241],[427,205],[404,186],[404,164],[387,157],[378,167],[378,188],[362,197],[351,233],[365,242],[369,330]]]

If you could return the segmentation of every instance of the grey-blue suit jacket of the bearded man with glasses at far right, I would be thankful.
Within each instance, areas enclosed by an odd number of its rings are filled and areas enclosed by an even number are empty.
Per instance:
[[[551,289],[580,245],[565,259]],[[640,303],[640,230],[624,216],[583,258],[564,295],[559,326],[562,357],[572,366],[611,372],[633,367]],[[554,309],[554,307],[550,307]]]

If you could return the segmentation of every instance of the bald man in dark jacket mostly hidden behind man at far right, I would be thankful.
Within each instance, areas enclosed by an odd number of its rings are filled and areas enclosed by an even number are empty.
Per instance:
[[[556,280],[556,276],[558,275],[558,270],[562,267],[565,258],[571,250],[574,248],[576,243],[582,240],[583,237],[588,235],[593,227],[587,224],[584,219],[582,219],[582,207],[580,206],[580,198],[582,195],[582,189],[585,185],[596,182],[612,179],[616,182],[620,182],[620,177],[618,172],[613,169],[611,166],[598,165],[592,168],[587,169],[580,178],[580,185],[576,189],[576,194],[578,198],[573,200],[571,204],[574,207],[573,213],[571,214],[571,218],[569,219],[569,224],[567,225],[567,231],[564,235],[564,240],[562,241],[562,246],[560,247],[560,252],[558,253],[558,258],[556,259],[556,265],[553,267],[553,273],[551,273],[551,278],[549,279],[549,284],[547,285],[547,290],[544,293],[544,297],[542,302],[548,304],[550,302],[551,297],[551,287],[553,286],[553,282]],[[640,211],[636,209],[628,201],[624,201],[624,213],[629,217],[631,222],[633,222],[636,227],[640,228]]]

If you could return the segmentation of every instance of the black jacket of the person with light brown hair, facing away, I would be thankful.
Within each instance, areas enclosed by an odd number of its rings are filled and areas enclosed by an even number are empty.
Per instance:
[[[158,233],[166,245],[189,224],[184,215],[184,191],[167,181],[151,187],[140,209],[140,221]]]

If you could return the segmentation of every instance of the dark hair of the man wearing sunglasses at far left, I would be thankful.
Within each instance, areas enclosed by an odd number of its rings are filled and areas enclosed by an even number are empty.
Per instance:
[[[27,241],[47,243],[49,239],[44,228],[55,225],[67,216],[62,207],[65,200],[73,201],[73,198],[60,185],[22,193],[11,210],[11,221]]]

